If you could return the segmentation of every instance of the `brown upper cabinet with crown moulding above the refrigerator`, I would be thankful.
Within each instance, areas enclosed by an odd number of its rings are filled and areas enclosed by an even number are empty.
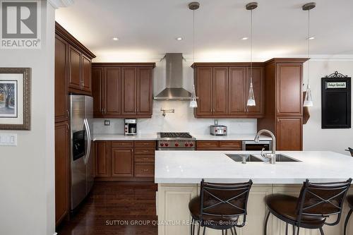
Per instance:
[[[66,59],[65,65],[67,69],[66,80],[68,81],[68,92],[91,95],[91,61],[95,58],[95,55],[58,23],[55,23],[55,33],[56,37],[61,37],[68,45],[66,48],[68,59]]]

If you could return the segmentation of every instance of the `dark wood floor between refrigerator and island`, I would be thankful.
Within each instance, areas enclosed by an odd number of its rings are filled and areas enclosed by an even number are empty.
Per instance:
[[[80,210],[58,229],[59,235],[157,235],[157,186],[98,182]],[[136,224],[136,222],[142,225]]]

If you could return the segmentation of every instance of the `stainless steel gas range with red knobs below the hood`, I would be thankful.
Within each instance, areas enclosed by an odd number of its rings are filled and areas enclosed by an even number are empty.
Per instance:
[[[186,132],[160,132],[158,150],[195,150],[196,138]]]

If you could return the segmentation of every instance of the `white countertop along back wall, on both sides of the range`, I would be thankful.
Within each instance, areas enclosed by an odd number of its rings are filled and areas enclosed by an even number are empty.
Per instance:
[[[193,135],[193,133],[191,133]],[[253,134],[230,134],[230,135],[193,135],[196,140],[253,140],[256,133]],[[157,140],[157,133],[123,135],[123,134],[94,134],[93,140]],[[266,135],[261,135],[260,140],[271,140]]]

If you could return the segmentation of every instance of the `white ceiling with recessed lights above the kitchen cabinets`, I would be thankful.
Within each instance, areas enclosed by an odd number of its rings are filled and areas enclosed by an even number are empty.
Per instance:
[[[153,61],[165,52],[192,54],[192,11],[186,0],[75,0],[56,21],[97,55],[96,61]],[[199,0],[196,61],[249,61],[250,12],[244,0]],[[253,57],[306,56],[305,0],[258,0]],[[316,0],[311,54],[353,58],[353,1]],[[112,37],[119,37],[113,41]],[[176,37],[184,40],[177,41]]]

